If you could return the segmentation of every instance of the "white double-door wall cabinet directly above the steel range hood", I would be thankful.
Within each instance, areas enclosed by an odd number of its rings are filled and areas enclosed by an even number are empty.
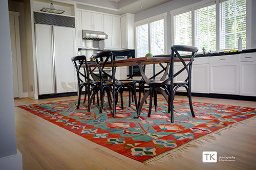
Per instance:
[[[103,32],[103,14],[82,11],[82,30]]]

